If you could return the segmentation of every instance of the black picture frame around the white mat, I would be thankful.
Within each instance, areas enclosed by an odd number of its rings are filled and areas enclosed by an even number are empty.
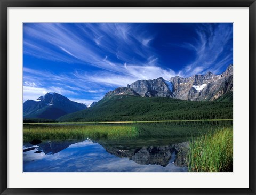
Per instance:
[[[256,194],[255,192],[255,0],[0,0],[0,193],[1,194]],[[10,189],[7,188],[7,7],[249,7],[250,11],[250,180],[248,189]],[[243,178],[241,178],[242,180]]]

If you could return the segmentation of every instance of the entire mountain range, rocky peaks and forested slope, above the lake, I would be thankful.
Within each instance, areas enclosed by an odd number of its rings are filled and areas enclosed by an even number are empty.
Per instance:
[[[162,77],[137,80],[127,87],[118,87],[109,91],[102,100],[93,102],[90,108],[82,103],[70,101],[58,93],[46,93],[36,101],[27,100],[23,103],[23,118],[59,121],[188,120],[232,117],[233,64],[230,64],[220,75],[207,72],[205,75],[187,78],[176,76],[169,80]]]

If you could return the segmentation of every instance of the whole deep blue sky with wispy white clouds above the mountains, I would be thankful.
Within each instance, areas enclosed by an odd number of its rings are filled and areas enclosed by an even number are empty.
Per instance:
[[[233,23],[23,23],[23,101],[56,92],[90,105],[136,80],[231,63]]]

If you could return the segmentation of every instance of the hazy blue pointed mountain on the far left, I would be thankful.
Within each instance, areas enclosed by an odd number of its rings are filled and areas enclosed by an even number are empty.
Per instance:
[[[85,108],[86,105],[70,101],[58,93],[46,93],[36,101],[27,100],[23,103],[23,118],[57,119]]]

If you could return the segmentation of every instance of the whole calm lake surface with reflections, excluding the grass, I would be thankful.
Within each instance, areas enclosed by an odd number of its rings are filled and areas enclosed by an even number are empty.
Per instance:
[[[138,124],[139,136],[134,139],[23,143],[23,172],[187,172],[186,166],[174,163],[179,153],[173,145],[231,125],[231,121]]]

